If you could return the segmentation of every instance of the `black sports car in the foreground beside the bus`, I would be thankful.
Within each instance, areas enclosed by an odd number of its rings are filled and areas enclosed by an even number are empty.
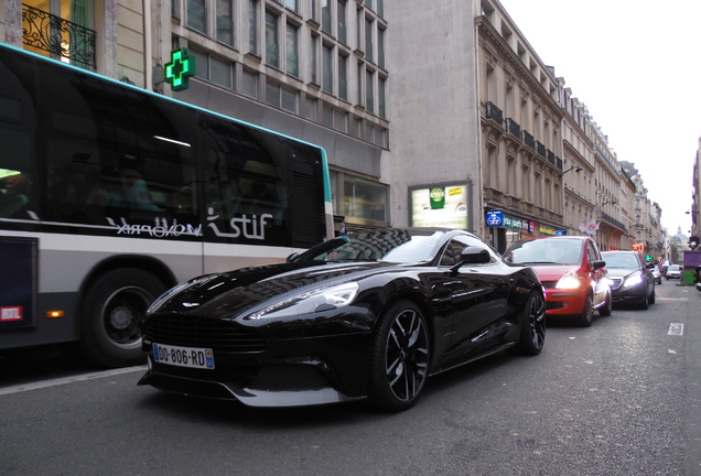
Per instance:
[[[369,398],[397,411],[431,375],[503,349],[540,353],[546,306],[531,268],[472,234],[380,229],[184,282],[142,329],[139,385],[256,407]]]

